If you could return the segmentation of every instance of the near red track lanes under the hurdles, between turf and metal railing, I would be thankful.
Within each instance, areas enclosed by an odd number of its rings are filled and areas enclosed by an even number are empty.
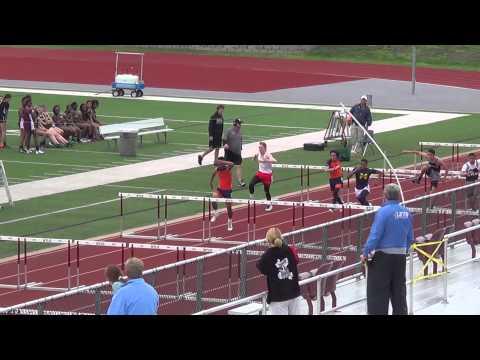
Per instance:
[[[460,186],[462,181],[460,180],[449,180],[446,183],[442,184],[442,188],[450,188],[455,186]],[[353,186],[353,184],[351,184]],[[382,183],[381,181],[374,181],[372,184],[372,195],[371,201],[374,204],[380,204],[382,201],[381,195]],[[403,188],[406,199],[412,199],[418,197],[419,195],[424,194],[423,185],[414,185],[410,181],[403,181]],[[285,197],[284,199],[298,200],[299,195],[292,195]],[[320,200],[322,202],[330,201],[330,192],[326,188],[321,188],[313,191],[311,193],[312,200]],[[345,195],[344,195],[345,199]],[[353,194],[350,193],[350,201],[353,200]],[[195,203],[199,204],[199,203]],[[192,206],[196,206],[193,204]],[[152,210],[154,211],[154,210]],[[346,214],[344,214],[346,215]],[[334,220],[341,217],[341,212],[331,213],[328,210],[324,209],[314,209],[308,208],[305,209],[305,227],[324,223],[327,221]],[[189,237],[189,238],[200,238],[201,229],[202,229],[202,216],[197,216],[196,218],[182,221],[179,223],[171,224],[168,226],[168,233],[178,234],[179,236]],[[301,216],[300,209],[297,209],[296,215],[296,226],[299,228],[301,226]],[[222,237],[224,240],[232,241],[246,241],[246,231],[247,231],[247,209],[246,207],[235,209],[234,211],[234,226],[235,231],[233,233],[228,233],[226,231],[226,218],[225,215],[219,217],[215,225],[212,227],[212,235],[215,237]],[[292,209],[291,208],[274,208],[274,211],[271,213],[265,212],[263,209],[258,209],[256,217],[256,226],[257,226],[257,235],[256,238],[261,238],[265,231],[272,227],[278,226],[283,232],[288,232],[292,230]],[[141,232],[142,235],[145,234],[155,234],[156,230],[146,230]],[[332,234],[333,235],[333,234]],[[338,234],[337,234],[338,235]],[[335,235],[335,237],[337,237]],[[107,239],[105,239],[107,240]],[[109,238],[109,241],[121,241],[125,239],[120,239],[118,237]],[[132,242],[141,242],[142,240],[131,240]],[[145,241],[145,240],[144,240]],[[153,241],[153,243],[158,243]],[[207,247],[223,247],[226,248],[228,245],[220,244],[208,244],[197,242],[186,243],[168,240],[169,245],[183,246],[183,245],[193,245],[193,246],[207,246]],[[339,240],[337,239],[335,243],[331,244],[339,245]],[[100,247],[87,247],[82,246],[80,248],[80,284],[82,285],[91,285],[94,283],[104,281],[103,269],[108,264],[121,264],[121,251],[120,249],[112,248],[100,248]],[[186,258],[192,258],[198,256],[199,253],[187,252],[185,254]],[[144,262],[146,269],[158,267],[161,265],[173,263],[177,261],[176,251],[153,251],[153,250],[135,250],[135,256],[140,257]],[[349,258],[352,260],[352,256],[355,254],[350,254]],[[72,250],[72,259],[75,259],[75,252]],[[72,274],[75,274],[75,262],[72,260]],[[218,264],[217,264],[218,265]],[[212,264],[212,267],[218,267],[215,264]],[[28,256],[28,282],[41,282],[43,286],[48,287],[66,287],[67,286],[67,250],[65,247],[57,249],[55,251],[44,252],[38,255]],[[224,271],[223,271],[224,272]],[[16,284],[17,281],[17,264],[16,260],[0,263],[0,283],[2,284]],[[22,279],[23,280],[23,279]],[[263,286],[263,282],[257,282],[256,287]],[[32,291],[32,290],[0,290],[0,307],[14,305],[20,302],[29,301],[39,297],[47,296],[48,293],[43,291]]]

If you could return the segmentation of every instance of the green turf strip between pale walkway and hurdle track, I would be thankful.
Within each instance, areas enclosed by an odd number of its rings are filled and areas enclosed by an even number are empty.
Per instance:
[[[231,108],[229,107],[228,109]],[[210,110],[211,107],[204,109],[206,117],[208,117]],[[244,111],[245,114],[247,110],[248,109],[243,108],[238,109],[238,111]],[[266,109],[262,109],[262,111],[263,110]],[[278,111],[278,109],[275,110]],[[249,111],[252,111],[250,114],[255,114],[254,109]],[[256,109],[256,112],[258,112],[258,109]],[[183,116],[187,115],[184,114]],[[309,123],[306,122],[305,124]],[[252,133],[255,133],[255,131]],[[418,148],[418,141],[427,139],[430,141],[463,141],[469,143],[480,143],[480,136],[476,135],[479,133],[480,116],[472,115],[436,123],[433,125],[423,125],[394,132],[382,133],[378,134],[376,138],[380,146],[387,152],[387,155],[391,159],[393,165],[402,166],[411,164],[413,157],[410,155],[400,154],[401,150]],[[268,137],[272,138],[273,136],[268,135]],[[188,137],[188,139],[191,138],[192,136]],[[101,144],[96,144],[95,146],[100,145]],[[158,149],[164,145],[155,146]],[[330,146],[330,148],[334,147],[335,145]],[[440,156],[447,156],[450,154],[450,152],[451,149],[438,149],[438,154]],[[52,152],[49,152],[48,155],[50,155],[50,153]],[[2,152],[1,156],[3,157],[4,154],[5,153]],[[58,151],[58,154],[62,154],[62,152]],[[76,155],[77,157],[83,156],[82,154]],[[275,155],[281,163],[317,165],[323,164],[328,157],[327,152],[305,152],[301,149],[280,152],[276,153]],[[46,157],[42,157],[42,159],[46,159]],[[36,161],[37,159],[35,158],[33,160]],[[71,161],[71,159],[67,159],[65,161]],[[383,159],[380,160],[378,153],[375,156],[371,156],[370,161],[372,166],[383,166]],[[354,162],[346,163],[346,165],[353,163]],[[13,164],[10,164],[10,167],[12,165]],[[255,170],[255,163],[253,163],[251,159],[245,159],[245,178],[248,179]],[[74,239],[84,239],[102,234],[118,232],[119,204],[113,199],[116,199],[119,191],[147,192],[165,189],[165,192],[176,194],[208,194],[208,181],[211,172],[211,167],[194,168],[187,171],[179,171],[165,175],[93,187],[86,190],[72,191],[69,193],[45,196],[32,200],[19,201],[15,204],[14,208],[6,207],[0,212],[1,232],[4,235],[36,235],[42,237],[63,237]],[[11,176],[10,174],[8,175]],[[311,181],[312,186],[325,184],[326,179],[327,178],[325,174],[313,175]],[[280,169],[276,170],[275,184],[272,187],[273,196],[279,196],[284,193],[297,191],[299,188],[300,179],[298,171]],[[246,189],[235,189],[234,197],[245,198],[247,195]],[[112,201],[84,209],[67,211],[60,214],[42,216],[13,223],[4,223],[15,219],[58,211],[60,209],[67,209],[109,200]],[[169,217],[175,218],[191,215],[200,212],[200,210],[200,207],[189,203],[173,205],[170,207]],[[155,211],[153,210],[153,204],[151,202],[133,199],[128,200],[126,204],[126,211],[130,213],[127,216],[127,227],[138,227],[151,224],[156,221]],[[41,245],[38,245],[38,248],[40,247]],[[16,248],[14,244],[0,244],[0,256],[12,255],[15,253],[15,251]]]

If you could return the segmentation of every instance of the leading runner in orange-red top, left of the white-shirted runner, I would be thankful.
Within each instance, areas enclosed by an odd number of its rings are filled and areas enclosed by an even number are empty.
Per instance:
[[[212,189],[213,197],[216,198],[224,198],[224,199],[231,199],[232,198],[232,167],[233,163],[230,161],[226,161],[225,158],[219,157],[218,160],[222,162],[221,165],[215,168],[215,171],[210,178],[210,188]],[[217,190],[214,190],[213,180],[215,177],[218,177],[218,186]],[[227,221],[227,230],[233,230],[233,211],[232,211],[232,204],[227,203],[227,214],[228,214],[228,221]],[[218,204],[216,202],[212,203],[213,207],[213,216],[210,219],[211,222],[215,222],[217,220],[217,210]]]

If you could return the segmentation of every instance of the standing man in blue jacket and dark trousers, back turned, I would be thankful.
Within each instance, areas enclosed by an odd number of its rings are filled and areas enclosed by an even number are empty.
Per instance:
[[[412,215],[400,205],[397,184],[385,186],[386,198],[375,215],[360,259],[368,261],[367,307],[369,315],[407,314],[406,254],[413,242]]]

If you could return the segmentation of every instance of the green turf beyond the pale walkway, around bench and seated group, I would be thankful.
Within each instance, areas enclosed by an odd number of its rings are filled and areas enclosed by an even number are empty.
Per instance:
[[[17,129],[17,110],[24,94],[13,93],[8,128]],[[45,104],[49,109],[59,104],[63,110],[67,103],[81,103],[87,98],[33,94],[35,104]],[[8,136],[9,149],[1,152],[6,170],[12,184],[38,180],[71,173],[91,171],[134,162],[171,157],[181,154],[203,151],[208,139],[208,119],[215,106],[210,104],[158,102],[129,99],[100,99],[98,118],[104,124],[122,123],[148,118],[164,117],[166,124],[175,129],[170,132],[167,144],[160,137],[147,135],[138,149],[136,158],[122,157],[114,144],[97,142],[78,144],[73,148],[47,149],[44,155],[25,155],[18,152],[19,137]],[[388,114],[375,114],[374,119],[390,117]],[[330,112],[318,110],[299,110],[264,108],[249,106],[227,106],[225,128],[231,120],[240,117],[243,121],[242,133],[245,143],[265,139],[319,131],[327,126]],[[32,142],[33,144],[33,142]],[[32,145],[33,146],[33,145]]]

